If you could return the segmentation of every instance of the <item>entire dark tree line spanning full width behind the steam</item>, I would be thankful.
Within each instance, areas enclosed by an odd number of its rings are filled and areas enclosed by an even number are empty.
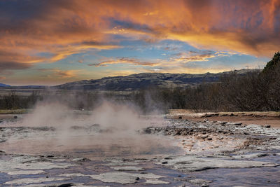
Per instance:
[[[0,109],[28,109],[36,102],[57,101],[72,109],[94,109],[102,99],[130,102],[144,113],[168,109],[193,111],[280,111],[280,53],[275,53],[262,71],[224,75],[217,83],[202,83],[188,88],[146,88],[129,95],[114,92],[33,92],[23,97],[0,97]]]

